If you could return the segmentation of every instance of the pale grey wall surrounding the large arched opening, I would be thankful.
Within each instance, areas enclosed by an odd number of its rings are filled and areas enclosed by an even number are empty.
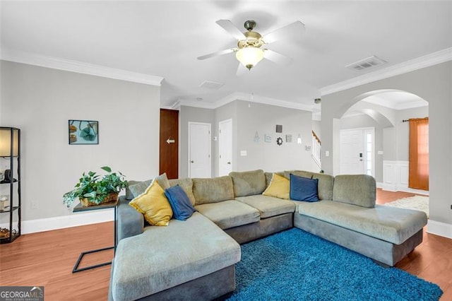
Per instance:
[[[322,96],[322,147],[325,172],[335,170],[335,120],[369,91],[398,89],[429,102],[429,231],[452,237],[452,61]]]

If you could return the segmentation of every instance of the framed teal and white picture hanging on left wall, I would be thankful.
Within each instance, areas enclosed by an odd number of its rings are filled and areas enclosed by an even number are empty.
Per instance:
[[[99,144],[99,122],[69,119],[69,144]]]

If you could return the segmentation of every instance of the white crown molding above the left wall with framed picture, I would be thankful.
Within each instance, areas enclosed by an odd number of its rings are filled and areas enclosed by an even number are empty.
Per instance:
[[[163,80],[160,76],[88,64],[83,61],[73,61],[70,59],[48,57],[30,52],[20,52],[8,48],[2,48],[0,55],[0,58],[4,61],[13,61],[16,63],[42,66],[51,69],[83,73],[105,78],[114,78],[121,81],[131,81],[133,83],[144,83],[146,85],[160,86]]]

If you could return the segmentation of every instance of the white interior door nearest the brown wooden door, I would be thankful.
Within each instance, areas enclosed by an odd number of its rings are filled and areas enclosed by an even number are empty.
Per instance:
[[[210,124],[189,122],[189,177],[210,177]]]

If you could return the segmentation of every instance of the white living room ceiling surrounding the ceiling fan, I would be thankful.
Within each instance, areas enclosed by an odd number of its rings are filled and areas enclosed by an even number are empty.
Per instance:
[[[236,76],[234,54],[196,59],[236,47],[219,19],[238,28],[254,19],[262,34],[295,20],[306,30],[268,46],[290,66],[264,60]],[[328,87],[451,47],[452,1],[1,1],[3,59],[37,54],[160,76],[162,107],[251,95],[318,110]],[[372,55],[387,63],[345,68]]]

